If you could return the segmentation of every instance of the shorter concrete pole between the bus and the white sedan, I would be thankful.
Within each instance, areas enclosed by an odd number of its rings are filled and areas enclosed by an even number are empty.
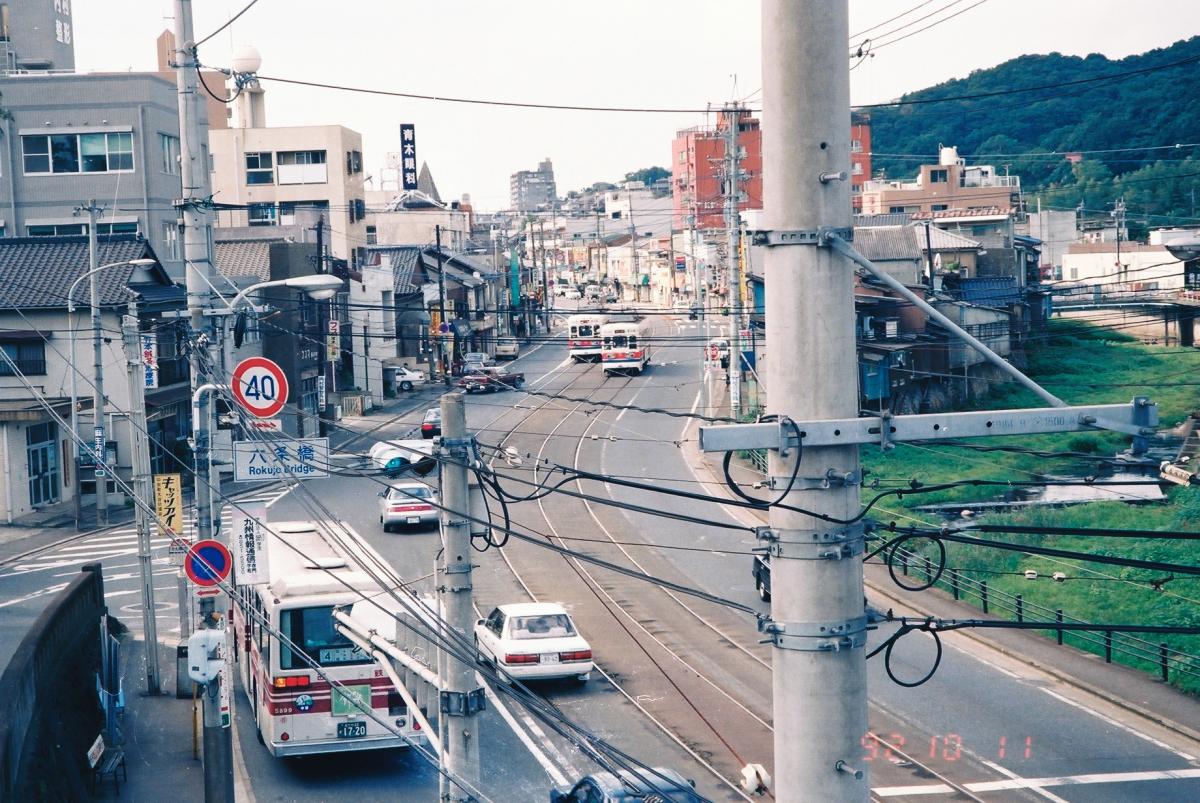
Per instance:
[[[475,607],[472,603],[472,522],[468,462],[474,438],[467,435],[461,392],[442,396],[442,565],[438,569],[438,598],[442,615],[456,637],[472,637]],[[479,789],[479,727],[475,714],[484,707],[484,690],[475,685],[475,667],[443,653],[442,672],[442,762],[452,778],[468,789]],[[469,801],[462,787],[440,777],[443,801]]]

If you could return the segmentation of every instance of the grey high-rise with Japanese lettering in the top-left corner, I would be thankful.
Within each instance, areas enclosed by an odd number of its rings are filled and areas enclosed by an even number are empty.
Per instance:
[[[74,70],[71,0],[0,4],[0,72]]]

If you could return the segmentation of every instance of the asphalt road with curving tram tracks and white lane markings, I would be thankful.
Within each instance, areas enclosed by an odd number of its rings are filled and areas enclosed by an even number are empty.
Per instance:
[[[658,350],[655,365],[643,377],[604,380],[598,367],[565,361],[560,343],[533,350],[521,359],[520,367],[532,389],[685,413],[701,389],[698,349],[688,338],[698,337],[701,330],[686,322],[662,325],[679,340]],[[382,430],[379,437],[401,437],[419,420],[420,412],[415,412]],[[704,484],[710,478],[692,466],[695,456],[689,455],[688,441],[695,432],[688,419],[505,392],[470,397],[468,426],[480,442],[503,443],[520,453],[520,468],[502,468],[514,478],[508,487],[515,493],[526,490],[515,478],[533,478],[532,468],[539,460],[578,465],[610,478],[642,478],[712,491]],[[428,575],[439,546],[436,532],[383,533],[378,487],[371,480],[348,477],[307,485],[316,501],[364,535],[402,577]],[[744,514],[734,515],[721,505],[605,483],[587,483],[581,489],[600,499],[650,510],[700,516],[714,523],[748,523]],[[272,521],[308,519],[317,511],[304,493],[277,495],[262,495],[272,502]],[[622,565],[641,565],[656,577],[695,586],[754,610],[768,610],[750,579],[748,551],[754,544],[745,531],[650,516],[563,495],[552,495],[540,504],[514,505],[512,513],[523,531],[592,539],[557,543]],[[612,540],[628,545],[622,551]],[[644,541],[686,549],[634,546]],[[160,605],[160,636],[169,641],[178,634],[174,575],[161,553],[163,545],[157,549],[156,588],[161,600],[172,600]],[[44,598],[79,564],[95,559],[106,565],[109,604],[131,629],[140,628],[134,540],[131,528],[118,528],[0,569],[0,655],[16,646]],[[727,778],[742,761],[770,766],[770,681],[761,664],[763,658],[769,664],[769,653],[756,645],[752,617],[672,598],[655,586],[568,562],[532,544],[511,541],[503,551],[490,550],[479,556],[478,567],[475,589],[481,609],[529,595],[572,606],[599,665],[613,681],[598,673],[584,687],[551,683],[538,688],[572,720],[631,755],[678,768],[715,799],[736,799],[719,775]],[[428,581],[419,581],[419,587],[421,583]],[[907,642],[898,652],[896,670],[922,673],[929,657],[923,649],[928,646],[923,648],[919,640]],[[916,689],[893,684],[877,660],[869,671],[870,724],[882,742],[866,738],[858,759],[871,769],[878,799],[953,797],[949,786],[938,789],[943,780],[966,785],[989,801],[1200,799],[1200,780],[1169,777],[1174,771],[1194,769],[1198,762],[1193,756],[1200,745],[1180,744],[1126,714],[1097,711],[1063,684],[990,654],[974,642],[948,639],[937,675]],[[595,768],[516,706],[508,706],[508,713],[502,715],[490,699],[480,723],[486,793],[497,799],[545,799],[552,783]],[[282,761],[257,743],[248,718],[239,718],[238,727],[258,799],[437,797],[436,772],[410,751]],[[892,748],[904,750],[907,757]]]

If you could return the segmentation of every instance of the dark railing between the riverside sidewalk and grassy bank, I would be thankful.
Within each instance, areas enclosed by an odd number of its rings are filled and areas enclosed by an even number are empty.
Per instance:
[[[932,561],[907,550],[899,551],[895,562],[905,576],[908,576],[910,570],[912,570],[926,582],[932,579],[936,571]],[[934,587],[941,587],[949,592],[955,600],[978,604],[984,613],[996,615],[998,611],[1012,616],[1016,622],[1033,619],[1037,622],[1087,623],[1086,619],[1063,613],[1061,607],[1050,609],[1038,603],[1026,601],[1022,594],[1009,594],[989,587],[986,580],[976,580],[959,569],[946,569]],[[1118,663],[1134,669],[1154,667],[1164,682],[1170,682],[1172,672],[1177,679],[1187,677],[1192,681],[1200,681],[1200,657],[1176,649],[1166,642],[1156,643],[1129,634],[1111,631],[1066,634],[1058,630],[1055,639],[1060,645],[1064,645],[1068,636],[1075,642],[1070,646],[1103,655],[1106,664],[1111,664],[1116,657]],[[1122,658],[1126,660],[1121,660]]]

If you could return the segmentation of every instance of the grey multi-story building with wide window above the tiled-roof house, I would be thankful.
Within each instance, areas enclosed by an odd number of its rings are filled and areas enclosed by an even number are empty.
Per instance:
[[[0,92],[0,234],[84,234],[88,216],[76,210],[95,200],[98,234],[140,234],[182,278],[172,205],[180,197],[174,82],[154,73],[8,73]]]

